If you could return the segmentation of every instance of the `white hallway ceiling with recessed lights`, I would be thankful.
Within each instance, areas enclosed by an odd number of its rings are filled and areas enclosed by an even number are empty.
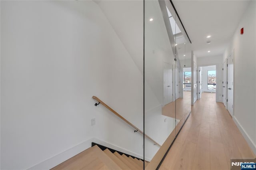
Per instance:
[[[173,0],[196,57],[224,53],[249,2],[247,0]],[[212,37],[206,38],[208,35]],[[207,44],[207,41],[211,43]]]

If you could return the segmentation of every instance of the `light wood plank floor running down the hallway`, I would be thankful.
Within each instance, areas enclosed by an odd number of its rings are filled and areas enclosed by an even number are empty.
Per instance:
[[[202,93],[161,170],[228,170],[230,158],[255,155],[215,93]]]

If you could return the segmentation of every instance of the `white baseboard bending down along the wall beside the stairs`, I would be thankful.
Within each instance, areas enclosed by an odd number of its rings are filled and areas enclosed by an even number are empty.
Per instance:
[[[114,150],[118,150],[120,152],[129,154],[132,156],[136,156],[137,158],[143,159],[143,155],[136,154],[134,152],[131,152],[124,148],[120,148],[118,146],[109,144],[108,142],[105,142],[105,141],[97,139],[97,138],[91,138],[91,139],[89,139],[85,142],[82,142],[82,143],[80,143],[80,144],[60,153],[60,154],[53,156],[52,158],[44,160],[43,162],[28,168],[28,170],[46,170],[46,169],[53,168],[54,166],[57,166],[58,164],[64,162],[65,160],[68,160],[69,158],[72,158],[73,156],[79,154],[80,152],[90,148],[92,146],[92,142],[106,146],[108,148],[112,148]],[[150,161],[151,159],[145,158],[145,160]]]

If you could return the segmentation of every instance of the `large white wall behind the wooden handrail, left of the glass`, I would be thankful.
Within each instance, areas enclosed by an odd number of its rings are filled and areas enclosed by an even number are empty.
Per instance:
[[[143,155],[142,135],[94,106],[93,95],[143,127],[142,74],[97,4],[1,1],[1,49],[1,169],[30,168],[94,137]]]

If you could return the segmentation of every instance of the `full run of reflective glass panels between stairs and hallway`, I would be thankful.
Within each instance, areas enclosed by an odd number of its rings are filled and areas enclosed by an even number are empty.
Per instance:
[[[185,121],[186,109],[190,111],[186,96],[191,94],[184,93],[191,91],[191,69],[186,67],[190,43],[169,1],[145,1],[144,32],[144,132],[160,145],[168,142],[164,154]],[[146,159],[159,149],[145,138]]]

